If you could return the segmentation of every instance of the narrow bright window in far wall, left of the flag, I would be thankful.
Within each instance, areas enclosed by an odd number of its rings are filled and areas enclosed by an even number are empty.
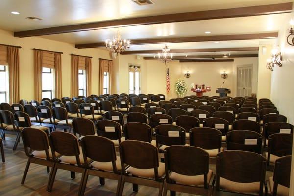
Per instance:
[[[130,65],[129,66],[129,92],[140,94],[141,93],[141,71],[140,66]]]

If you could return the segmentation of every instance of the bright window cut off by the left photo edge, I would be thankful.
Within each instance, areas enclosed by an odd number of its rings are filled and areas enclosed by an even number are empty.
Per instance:
[[[9,76],[8,66],[0,65],[0,103],[9,102]]]

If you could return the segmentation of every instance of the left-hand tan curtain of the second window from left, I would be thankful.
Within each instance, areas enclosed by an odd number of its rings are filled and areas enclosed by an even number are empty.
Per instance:
[[[34,50],[34,99],[42,99],[42,51]]]

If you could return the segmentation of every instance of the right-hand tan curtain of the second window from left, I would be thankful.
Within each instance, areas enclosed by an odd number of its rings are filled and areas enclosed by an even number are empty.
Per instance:
[[[54,53],[55,65],[55,98],[62,97],[61,54]]]

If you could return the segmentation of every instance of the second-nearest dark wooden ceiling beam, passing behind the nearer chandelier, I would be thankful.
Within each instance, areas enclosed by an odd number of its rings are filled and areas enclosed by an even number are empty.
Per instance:
[[[208,41],[230,41],[230,40],[254,40],[277,38],[278,32],[272,33],[251,33],[237,35],[213,35],[213,36],[194,36],[194,37],[171,37],[171,38],[150,38],[131,40],[131,45],[141,44],[161,44],[161,43],[181,43],[181,42],[208,42]],[[75,48],[97,48],[105,47],[105,42],[76,44]]]

